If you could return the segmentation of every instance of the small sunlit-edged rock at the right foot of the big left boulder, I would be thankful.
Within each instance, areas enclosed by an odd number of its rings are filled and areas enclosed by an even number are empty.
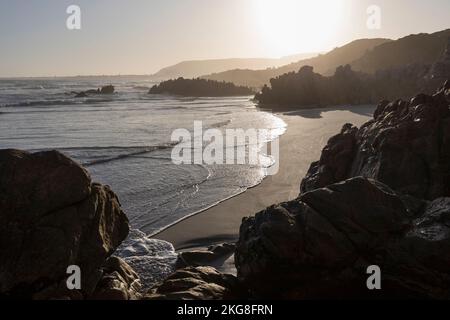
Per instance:
[[[94,300],[137,300],[140,298],[139,276],[121,258],[110,257],[103,266],[104,275],[92,295]]]

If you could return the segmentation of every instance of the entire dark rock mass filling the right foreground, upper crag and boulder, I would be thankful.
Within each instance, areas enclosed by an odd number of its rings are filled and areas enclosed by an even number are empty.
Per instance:
[[[450,299],[450,83],[331,138],[299,198],[244,219],[253,298]],[[379,266],[382,290],[366,286]]]

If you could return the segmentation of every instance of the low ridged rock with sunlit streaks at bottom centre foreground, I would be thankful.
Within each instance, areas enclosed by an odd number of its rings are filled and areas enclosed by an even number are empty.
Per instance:
[[[212,267],[188,267],[152,288],[144,300],[221,300],[236,298],[238,292],[234,276]]]

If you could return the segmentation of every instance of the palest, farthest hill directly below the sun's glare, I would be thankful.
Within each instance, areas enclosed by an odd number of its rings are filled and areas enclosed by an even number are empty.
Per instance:
[[[176,65],[161,69],[152,75],[152,78],[158,81],[176,79],[179,77],[190,79],[198,78],[205,74],[218,73],[232,69],[267,69],[280,67],[316,55],[317,53],[304,53],[286,56],[279,59],[254,58],[183,61]]]

